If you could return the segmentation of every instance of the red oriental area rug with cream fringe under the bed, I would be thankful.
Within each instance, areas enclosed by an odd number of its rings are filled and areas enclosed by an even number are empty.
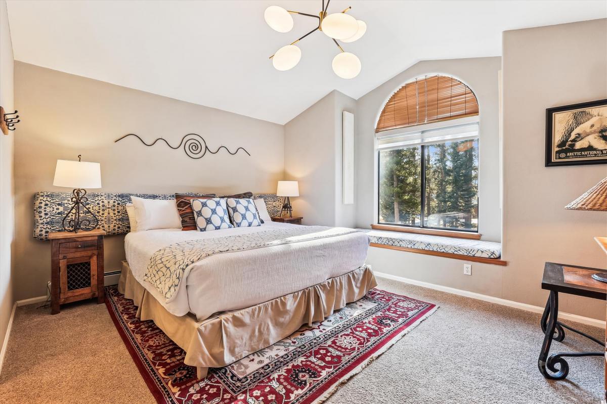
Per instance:
[[[360,372],[436,310],[436,305],[373,289],[321,323],[196,379],[185,352],[115,287],[106,305],[143,379],[160,404],[313,404]]]

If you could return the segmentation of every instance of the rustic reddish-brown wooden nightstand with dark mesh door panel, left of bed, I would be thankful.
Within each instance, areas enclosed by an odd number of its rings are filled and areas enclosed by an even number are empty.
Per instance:
[[[105,301],[103,290],[103,236],[101,229],[92,231],[50,232],[51,240],[51,309],[59,305],[97,297]]]

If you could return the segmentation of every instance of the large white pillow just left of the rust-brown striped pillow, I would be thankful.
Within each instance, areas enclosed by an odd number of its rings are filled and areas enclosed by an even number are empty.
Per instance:
[[[131,197],[135,208],[137,231],[152,229],[181,229],[181,218],[174,199],[145,199]]]

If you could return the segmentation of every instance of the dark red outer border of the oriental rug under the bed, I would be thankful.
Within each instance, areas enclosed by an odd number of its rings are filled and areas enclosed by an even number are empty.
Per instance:
[[[113,288],[113,287],[115,287],[115,286],[106,286],[106,289]],[[399,297],[404,297],[404,298],[409,298],[412,300],[421,301],[422,303],[426,303],[429,306],[426,309],[424,309],[423,311],[419,312],[418,315],[416,315],[412,320],[407,322],[407,324],[402,325],[398,329],[396,329],[393,332],[391,332],[390,334],[388,334],[388,337],[382,339],[378,345],[373,347],[373,349],[370,351],[370,354],[367,357],[365,357],[365,358],[361,357],[361,358],[355,360],[353,363],[350,363],[341,372],[337,373],[336,375],[331,377],[331,379],[327,380],[327,382],[323,383],[319,388],[316,389],[316,392],[313,392],[301,404],[320,404],[320,403],[324,402],[325,400],[328,400],[329,397],[331,397],[337,391],[337,388],[339,388],[339,386],[344,385],[354,375],[359,374],[371,362],[373,362],[379,356],[384,354],[384,352],[386,352],[388,349],[392,348],[393,345],[395,345],[397,342],[399,342],[405,335],[409,334],[410,331],[415,329],[420,323],[422,323],[424,320],[426,320],[426,318],[430,317],[430,315],[432,315],[439,308],[438,305],[429,303],[427,301],[415,299],[415,298],[412,298],[409,296],[405,296],[405,295],[401,295],[401,294],[397,294],[397,293],[393,293],[393,292],[384,291],[384,289],[379,289],[379,288],[374,288],[374,289],[376,289],[377,291],[387,293],[387,294],[392,294],[392,295],[396,295]],[[138,369],[139,373],[141,374],[141,377],[143,377],[143,380],[146,382],[146,385],[148,385],[148,389],[152,393],[152,396],[154,396],[154,399],[156,400],[156,402],[158,404],[166,404],[166,399],[162,392],[163,387],[159,386],[158,383],[154,380],[154,377],[152,377],[152,375],[151,375],[150,369],[148,369],[148,366],[146,365],[146,363],[144,363],[144,359],[142,359],[140,357],[137,350],[135,349],[135,346],[131,342],[129,335],[127,335],[126,331],[124,331],[124,328],[120,323],[120,319],[117,317],[117,314],[114,312],[114,309],[112,308],[112,302],[110,301],[110,299],[111,299],[110,295],[106,293],[106,299],[105,299],[106,308],[110,314],[110,317],[112,318],[112,322],[114,323],[114,326],[118,331],[118,334],[120,334],[120,338],[121,338],[122,342],[126,346],[126,349],[129,352],[129,354],[131,354],[131,358],[132,358],[133,362],[135,362],[135,366],[137,366],[137,369]],[[326,390],[323,391],[325,386],[327,386]]]

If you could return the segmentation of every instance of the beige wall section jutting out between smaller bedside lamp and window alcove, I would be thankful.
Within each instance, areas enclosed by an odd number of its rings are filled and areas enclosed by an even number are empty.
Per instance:
[[[354,205],[342,203],[342,111],[356,100],[328,93],[285,124],[285,180],[299,181],[293,212],[304,224],[354,226]]]

